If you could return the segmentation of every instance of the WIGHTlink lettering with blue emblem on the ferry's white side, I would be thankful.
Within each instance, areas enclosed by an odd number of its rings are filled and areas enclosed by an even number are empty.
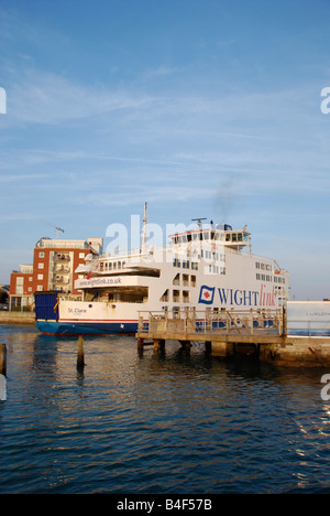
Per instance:
[[[217,298],[217,299],[216,299]],[[266,286],[262,284],[257,290],[240,289],[216,289],[204,284],[199,292],[199,303],[213,304],[219,302],[223,307],[263,307],[272,308],[276,305],[276,292],[273,287],[272,292],[266,291]]]

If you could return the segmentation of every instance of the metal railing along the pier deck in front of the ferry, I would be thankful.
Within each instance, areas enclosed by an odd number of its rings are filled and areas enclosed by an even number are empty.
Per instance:
[[[205,333],[284,335],[284,311],[226,310],[219,312],[195,310],[167,310],[139,312],[139,333]]]

